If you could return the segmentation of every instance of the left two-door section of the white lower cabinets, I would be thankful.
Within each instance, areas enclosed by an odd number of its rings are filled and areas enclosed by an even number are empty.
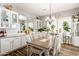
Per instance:
[[[6,52],[17,49],[21,46],[20,37],[9,37],[1,39],[1,53],[4,54]]]

